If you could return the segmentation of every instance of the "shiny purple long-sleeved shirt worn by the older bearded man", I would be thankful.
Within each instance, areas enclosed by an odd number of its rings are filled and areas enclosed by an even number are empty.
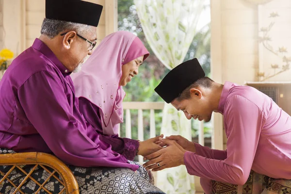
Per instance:
[[[86,122],[69,74],[39,39],[16,57],[0,81],[0,147],[54,153],[76,166],[136,170]]]

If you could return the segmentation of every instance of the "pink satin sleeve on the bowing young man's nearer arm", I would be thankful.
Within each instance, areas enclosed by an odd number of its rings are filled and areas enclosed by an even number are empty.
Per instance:
[[[224,116],[227,158],[210,159],[186,152],[184,162],[190,175],[243,185],[254,161],[265,118],[253,102],[241,96],[227,99]]]

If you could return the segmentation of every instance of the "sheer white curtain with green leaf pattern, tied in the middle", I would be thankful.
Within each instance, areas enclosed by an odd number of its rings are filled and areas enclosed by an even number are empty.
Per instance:
[[[134,0],[146,40],[168,69],[183,62],[193,41],[203,0]],[[182,135],[191,141],[191,123],[182,112],[166,104],[161,133]],[[193,194],[194,177],[185,166],[157,172],[157,186],[167,194]]]

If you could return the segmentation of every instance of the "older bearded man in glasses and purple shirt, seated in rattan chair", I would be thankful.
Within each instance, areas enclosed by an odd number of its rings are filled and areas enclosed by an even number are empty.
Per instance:
[[[81,194],[100,190],[162,193],[150,183],[145,168],[101,142],[96,129],[79,111],[69,75],[80,68],[96,46],[101,12],[101,5],[82,0],[46,0],[41,36],[16,57],[0,82],[0,147],[53,153],[72,165]],[[13,180],[19,185],[21,174],[15,176],[18,178]],[[48,177],[42,169],[33,176],[40,182]],[[9,184],[2,182],[0,193],[13,192]],[[37,189],[31,181],[22,187],[24,193]],[[63,186],[52,178],[47,189],[59,193]]]

